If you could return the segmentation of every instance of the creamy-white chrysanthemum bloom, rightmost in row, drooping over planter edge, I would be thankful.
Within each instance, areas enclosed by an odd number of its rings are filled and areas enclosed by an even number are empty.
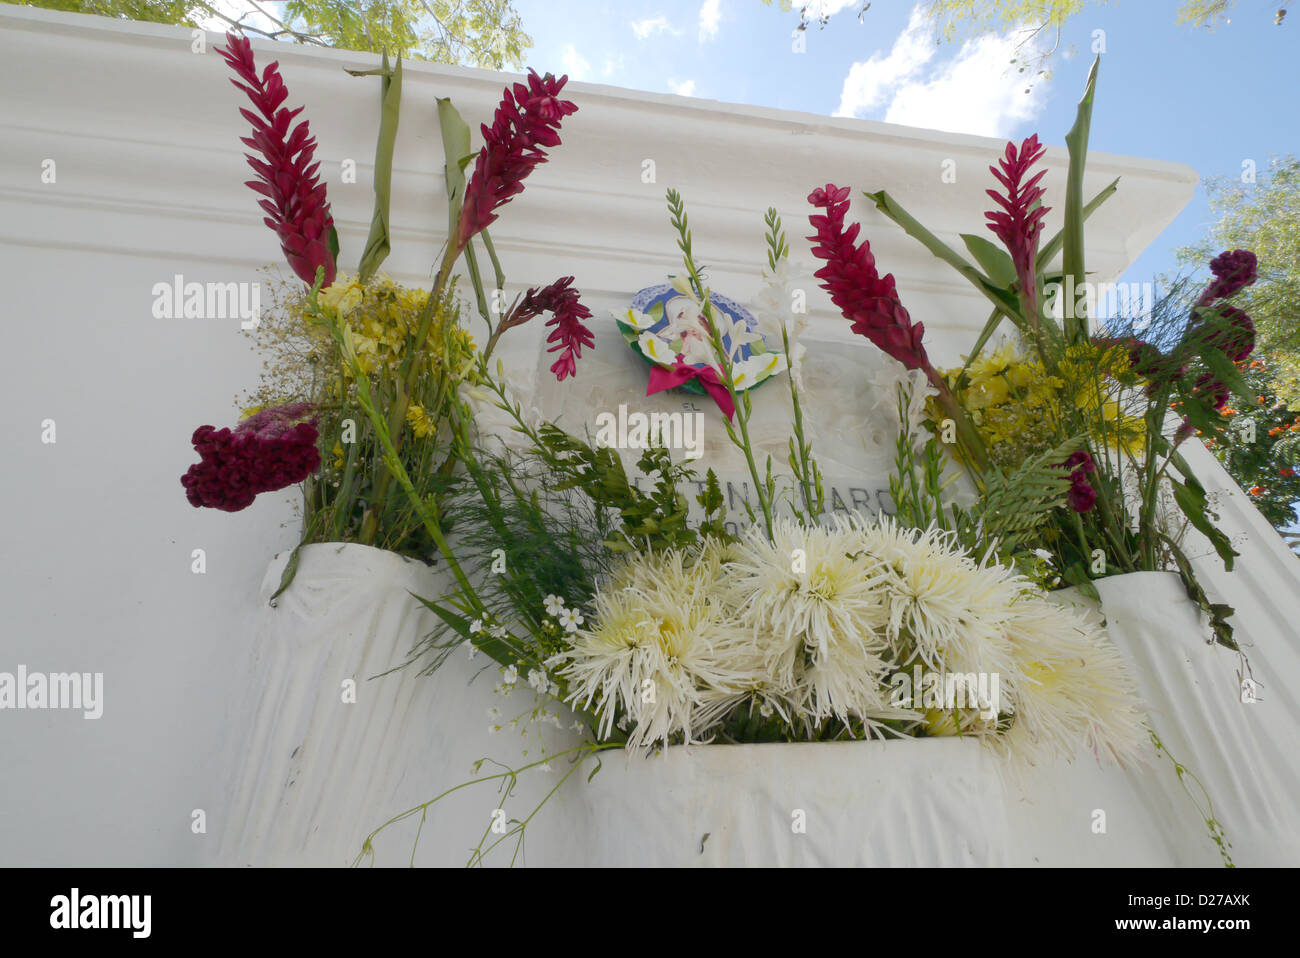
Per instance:
[[[1083,610],[1024,597],[1008,623],[1019,676],[1014,721],[997,741],[1017,760],[1072,759],[1087,747],[1121,767],[1149,758],[1138,685],[1105,628]]]

